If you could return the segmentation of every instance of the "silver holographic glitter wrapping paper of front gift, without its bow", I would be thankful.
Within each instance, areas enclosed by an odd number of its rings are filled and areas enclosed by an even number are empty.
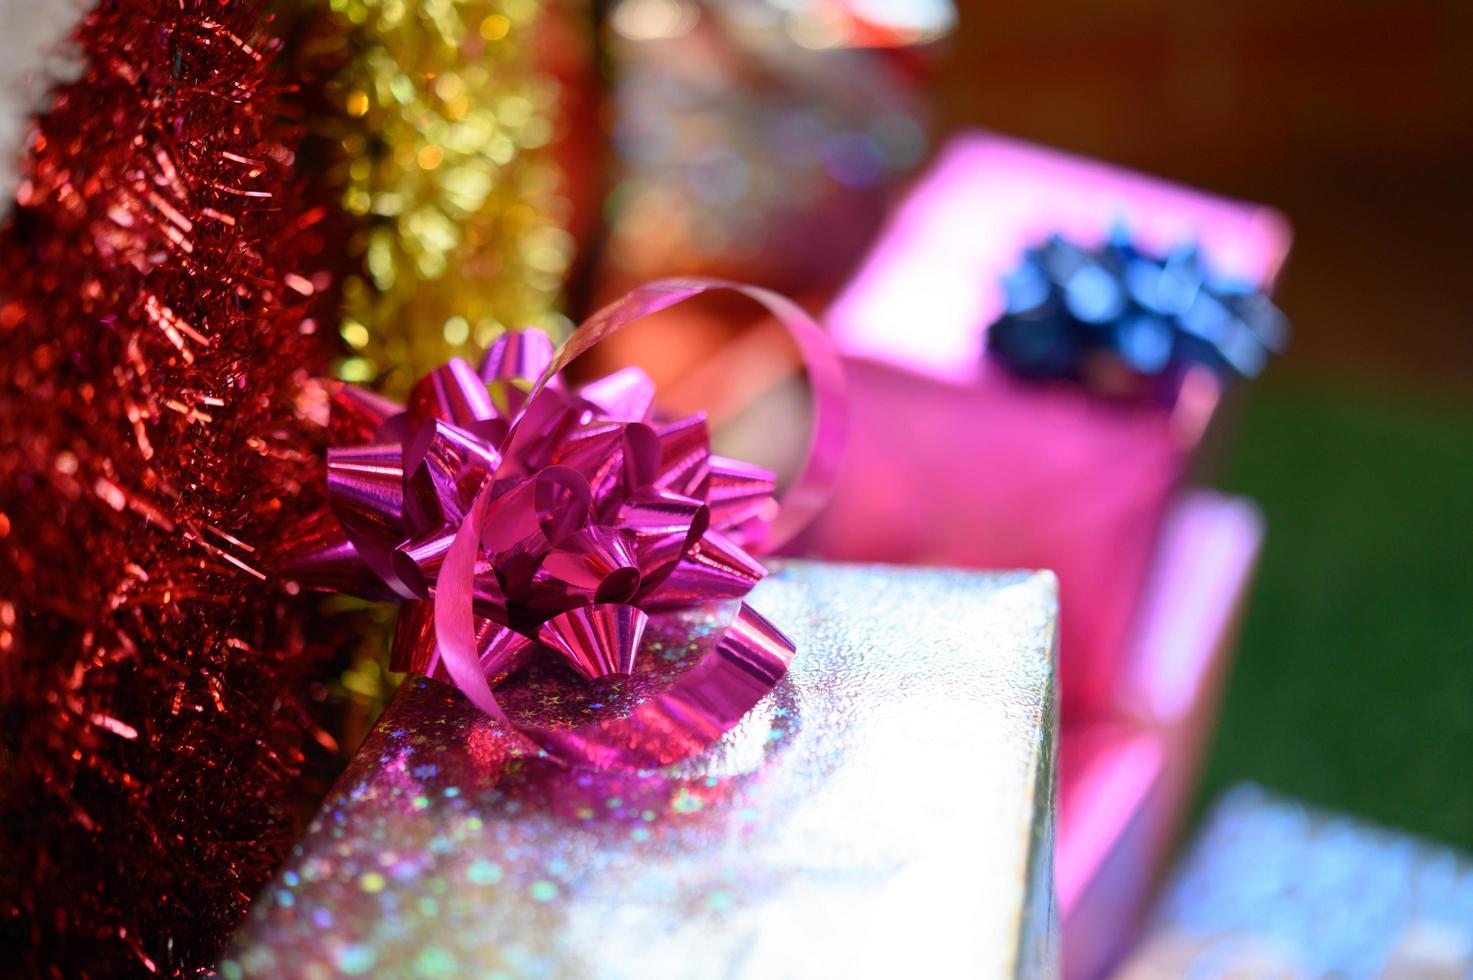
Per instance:
[[[658,774],[508,760],[405,684],[221,976],[1053,976],[1053,576],[790,561],[751,601],[787,679]]]

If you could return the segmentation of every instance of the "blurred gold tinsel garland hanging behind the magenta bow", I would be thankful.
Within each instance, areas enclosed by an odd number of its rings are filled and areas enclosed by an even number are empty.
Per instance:
[[[355,270],[339,365],[402,395],[505,329],[555,335],[573,259],[549,144],[558,83],[544,0],[330,0],[348,57],[328,87]]]

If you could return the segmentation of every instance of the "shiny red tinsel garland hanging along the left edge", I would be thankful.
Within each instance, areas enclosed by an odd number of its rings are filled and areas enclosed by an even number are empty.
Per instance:
[[[206,964],[290,843],[326,654],[261,566],[336,330],[259,27],[103,0],[0,233],[0,970]]]

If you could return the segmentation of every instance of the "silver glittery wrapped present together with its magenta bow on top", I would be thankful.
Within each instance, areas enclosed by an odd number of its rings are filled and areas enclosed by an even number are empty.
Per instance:
[[[563,373],[714,287],[804,355],[813,451],[778,498],[638,368]],[[417,678],[222,974],[1049,976],[1055,579],[763,578],[843,427],[837,355],[797,307],[664,280],[557,351],[513,335],[407,405],[333,402],[331,510],[275,566],[404,600]]]

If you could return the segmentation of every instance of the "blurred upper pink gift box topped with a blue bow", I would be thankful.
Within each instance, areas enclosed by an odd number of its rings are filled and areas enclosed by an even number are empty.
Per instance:
[[[1161,261],[1127,273],[1121,259],[1117,268],[1119,256],[1099,251],[1124,248],[1111,237],[1119,227],[1130,230],[1131,256]],[[1047,274],[1025,289],[1019,268],[1050,236],[1072,243],[1068,255],[1036,256],[1049,259]],[[1186,243],[1198,258],[1171,258]],[[1200,289],[1202,270],[1214,281],[1267,287],[1287,245],[1287,227],[1267,208],[1000,137],[955,139],[826,315],[848,361],[853,416],[838,492],[809,538],[813,551],[1053,569],[1064,712],[1111,710],[1161,520],[1221,386],[1199,371],[1170,399],[1122,402],[1094,386],[1033,383],[988,355],[990,327],[1006,314],[1114,317],[1111,354],[1134,352],[1117,329],[1131,311],[1152,312],[1168,337],[1190,333],[1177,321],[1203,336],[1228,327],[1237,336],[1242,317],[1203,312],[1227,309],[1228,296],[1226,286],[1217,299]],[[1162,326],[1178,295],[1200,298],[1202,309]],[[1077,349],[1066,352],[1056,374],[1100,374]],[[1180,364],[1168,357],[1158,365]]]

